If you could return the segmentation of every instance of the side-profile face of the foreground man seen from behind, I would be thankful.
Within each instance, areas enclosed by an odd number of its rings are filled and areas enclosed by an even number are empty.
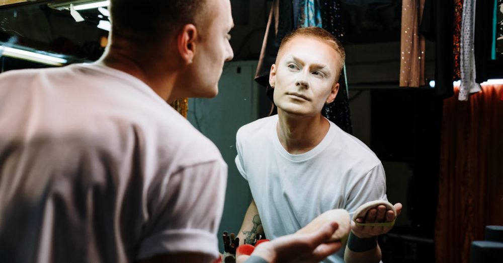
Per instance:
[[[196,45],[191,76],[188,76],[194,84],[192,97],[215,97],[218,94],[218,80],[222,75],[223,64],[234,56],[229,44],[229,31],[234,26],[230,0],[208,0],[208,8],[212,18],[207,20],[207,25],[201,25],[207,28],[202,29],[201,41]]]

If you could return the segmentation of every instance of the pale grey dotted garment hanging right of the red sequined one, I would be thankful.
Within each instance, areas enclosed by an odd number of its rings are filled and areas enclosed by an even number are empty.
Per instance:
[[[474,22],[475,0],[464,0],[461,23],[461,85],[459,87],[459,100],[468,100],[470,94],[481,91],[480,84],[475,82]]]

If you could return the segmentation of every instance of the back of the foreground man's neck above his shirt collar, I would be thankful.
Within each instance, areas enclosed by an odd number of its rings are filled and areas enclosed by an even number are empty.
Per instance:
[[[176,71],[167,68],[165,63],[159,63],[162,58],[156,59],[151,55],[142,56],[142,52],[138,50],[141,49],[131,48],[126,42],[115,40],[97,62],[136,77],[164,101],[170,102],[176,81]]]

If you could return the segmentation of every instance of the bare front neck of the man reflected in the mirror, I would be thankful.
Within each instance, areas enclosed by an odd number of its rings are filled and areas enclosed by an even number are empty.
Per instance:
[[[330,123],[321,113],[298,116],[278,109],[278,139],[290,154],[302,154],[313,149],[325,138],[329,128]]]

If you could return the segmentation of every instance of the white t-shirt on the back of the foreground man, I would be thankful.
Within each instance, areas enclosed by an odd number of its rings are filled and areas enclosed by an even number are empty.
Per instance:
[[[0,76],[0,258],[218,253],[227,166],[140,80],[100,64]]]

